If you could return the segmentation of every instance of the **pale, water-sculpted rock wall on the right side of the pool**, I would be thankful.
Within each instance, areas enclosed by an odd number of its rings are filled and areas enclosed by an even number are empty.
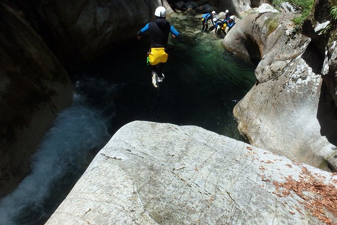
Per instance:
[[[251,144],[336,170],[335,41],[319,37],[313,18],[302,34],[294,32],[294,16],[251,14],[226,35],[227,49],[257,65],[256,85],[234,116]]]

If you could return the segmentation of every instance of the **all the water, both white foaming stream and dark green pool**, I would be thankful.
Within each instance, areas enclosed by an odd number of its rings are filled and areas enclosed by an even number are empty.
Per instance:
[[[195,125],[244,140],[232,115],[254,85],[254,66],[201,33],[193,16],[169,19],[183,33],[170,37],[165,79],[151,84],[146,65],[149,40],[121,43],[82,71],[72,73],[77,93],[32,157],[32,174],[0,200],[0,224],[44,224],[95,154],[123,125],[134,120]]]

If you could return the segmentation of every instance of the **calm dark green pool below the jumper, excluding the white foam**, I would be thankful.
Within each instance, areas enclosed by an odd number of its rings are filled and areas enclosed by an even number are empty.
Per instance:
[[[226,51],[222,38],[200,32],[199,19],[189,16],[169,21],[178,24],[175,28],[183,37],[169,38],[169,59],[159,89],[152,87],[151,68],[146,65],[147,37],[125,44],[130,50],[121,44],[120,49],[105,55],[75,79],[90,76],[106,82],[100,96],[114,103],[111,134],[128,122],[145,120],[196,125],[244,140],[232,111],[255,83],[254,65]],[[120,60],[116,60],[116,52]]]

